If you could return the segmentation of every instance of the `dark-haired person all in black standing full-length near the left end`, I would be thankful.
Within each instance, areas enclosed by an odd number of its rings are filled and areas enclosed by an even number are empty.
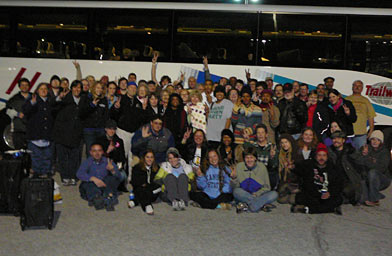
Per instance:
[[[82,83],[75,80],[71,93],[60,93],[56,98],[59,108],[53,127],[59,171],[64,186],[76,185],[76,172],[80,165],[80,142],[82,123],[79,117],[79,102]],[[56,108],[57,109],[57,108]]]

